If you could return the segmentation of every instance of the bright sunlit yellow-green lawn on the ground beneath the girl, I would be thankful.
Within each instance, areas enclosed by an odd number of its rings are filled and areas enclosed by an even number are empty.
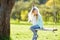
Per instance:
[[[30,31],[31,25],[14,25],[11,24],[10,37],[12,40],[31,40],[33,33]],[[44,25],[44,27],[52,27],[53,25]],[[60,26],[55,25],[58,29],[55,33],[51,31],[38,31],[38,40],[60,40]]]

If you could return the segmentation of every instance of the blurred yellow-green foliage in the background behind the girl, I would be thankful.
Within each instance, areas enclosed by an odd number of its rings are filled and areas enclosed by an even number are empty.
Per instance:
[[[56,18],[56,22],[60,22],[59,0],[18,0],[12,9],[11,18],[26,21],[33,2],[39,8],[44,21],[53,22]]]

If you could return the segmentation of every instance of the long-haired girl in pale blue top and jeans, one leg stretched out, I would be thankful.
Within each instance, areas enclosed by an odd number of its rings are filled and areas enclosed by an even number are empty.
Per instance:
[[[32,7],[30,13],[28,14],[28,21],[32,22],[32,26],[31,26],[31,31],[33,32],[33,38],[32,40],[37,40],[37,31],[39,29],[41,30],[49,30],[49,31],[56,31],[57,29],[52,29],[52,28],[44,28],[43,27],[43,20],[42,20],[42,16],[39,13],[39,10],[37,7]]]

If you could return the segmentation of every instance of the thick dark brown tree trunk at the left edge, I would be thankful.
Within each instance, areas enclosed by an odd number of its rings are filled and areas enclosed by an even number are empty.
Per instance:
[[[0,0],[0,37],[1,38],[10,37],[10,13],[14,3],[15,0]],[[9,40],[9,38],[7,40]]]

